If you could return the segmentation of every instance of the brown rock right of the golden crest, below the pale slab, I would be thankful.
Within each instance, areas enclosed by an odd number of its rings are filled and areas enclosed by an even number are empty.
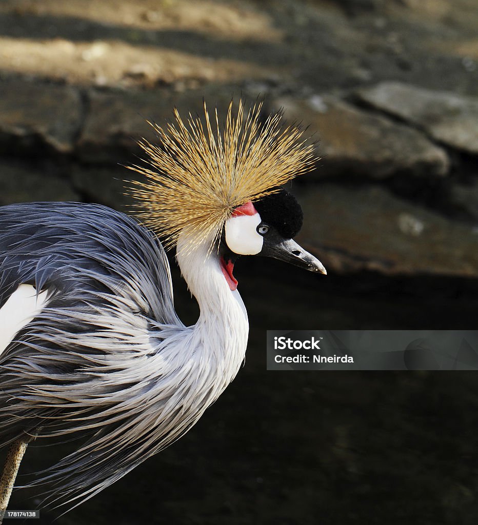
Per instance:
[[[446,153],[422,133],[338,98],[279,98],[273,106],[284,108],[288,121],[301,122],[317,133],[319,176],[381,179],[396,173],[441,176],[448,171]]]

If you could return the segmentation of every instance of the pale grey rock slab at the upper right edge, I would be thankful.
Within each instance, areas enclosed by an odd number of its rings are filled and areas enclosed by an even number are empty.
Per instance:
[[[357,91],[371,106],[411,122],[451,148],[478,154],[478,98],[381,82]]]

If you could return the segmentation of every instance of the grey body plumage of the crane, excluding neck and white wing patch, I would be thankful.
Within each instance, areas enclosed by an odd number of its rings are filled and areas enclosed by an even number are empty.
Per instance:
[[[0,207],[0,307],[20,283],[49,298],[0,355],[0,445],[91,434],[39,480],[52,499],[91,497],[217,397],[188,381],[192,329],[174,311],[161,244],[133,219],[99,205]]]

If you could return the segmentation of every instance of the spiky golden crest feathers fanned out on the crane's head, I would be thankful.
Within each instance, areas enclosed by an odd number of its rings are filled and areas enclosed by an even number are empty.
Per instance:
[[[191,113],[186,123],[174,110],[174,122],[151,123],[160,143],[141,140],[145,166],[127,166],[145,176],[133,182],[139,218],[164,238],[167,246],[188,227],[190,248],[221,234],[234,208],[271,194],[316,160],[314,146],[297,127],[284,127],[282,114],[260,119],[262,103],[245,114],[242,100],[231,101],[224,127],[217,109],[211,122],[204,102],[205,126]]]

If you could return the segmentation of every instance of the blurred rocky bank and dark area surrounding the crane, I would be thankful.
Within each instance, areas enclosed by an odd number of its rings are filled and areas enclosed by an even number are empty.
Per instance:
[[[328,276],[241,260],[244,369],[180,442],[58,525],[476,523],[475,374],[267,372],[265,330],[474,327],[478,4],[3,0],[0,204],[128,209],[121,164],[154,140],[146,120],[232,96],[317,141],[293,191]],[[55,453],[30,446],[22,472]]]

